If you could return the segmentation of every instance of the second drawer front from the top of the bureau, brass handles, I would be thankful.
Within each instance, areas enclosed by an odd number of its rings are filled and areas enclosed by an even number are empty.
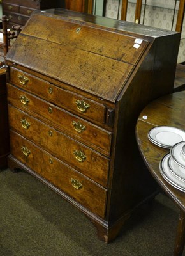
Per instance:
[[[33,115],[40,115],[45,121],[54,123],[58,129],[80,140],[96,150],[110,154],[111,132],[105,131],[77,116],[71,115],[53,104],[48,104],[36,96],[26,93],[8,84],[8,100],[23,111],[31,111]],[[40,117],[38,116],[38,117]]]

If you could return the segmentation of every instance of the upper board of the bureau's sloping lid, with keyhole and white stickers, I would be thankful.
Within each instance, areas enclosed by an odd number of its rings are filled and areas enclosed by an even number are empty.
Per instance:
[[[33,23],[24,29],[24,35],[34,35],[43,40],[50,40],[50,42],[61,45],[70,45],[75,49],[92,52],[132,65],[137,63],[147,46],[147,41],[144,40],[140,45],[139,51],[137,51],[133,47],[136,36],[125,36],[122,33],[116,33],[114,31],[114,36],[110,38],[112,31],[92,28],[90,25],[83,26],[83,24],[79,25],[70,21],[63,22],[60,19],[56,20],[52,17],[48,18],[45,16],[42,16],[40,19],[38,15],[34,15],[33,18]],[[36,26],[38,22],[40,22],[39,27]],[[51,34],[50,28],[54,30],[58,26],[61,26],[61,23],[63,23],[64,28]],[[35,28],[34,30],[33,26]],[[77,33],[78,28],[80,28],[80,31]]]

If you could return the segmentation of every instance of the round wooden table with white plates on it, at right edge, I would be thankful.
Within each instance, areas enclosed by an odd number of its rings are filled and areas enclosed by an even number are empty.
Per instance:
[[[184,99],[185,91],[182,91],[155,100],[140,113],[136,126],[138,147],[147,168],[166,195],[172,198],[180,209],[174,256],[182,255],[185,243],[185,193],[171,186],[161,176],[159,161],[169,150],[151,143],[147,138],[147,133],[152,127],[159,125],[168,125],[185,130]],[[147,119],[143,118],[143,116],[147,116]]]

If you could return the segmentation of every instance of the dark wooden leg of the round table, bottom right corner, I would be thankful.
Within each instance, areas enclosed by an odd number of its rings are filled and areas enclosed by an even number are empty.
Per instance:
[[[179,212],[179,222],[175,239],[174,256],[181,256],[185,244],[185,212]]]

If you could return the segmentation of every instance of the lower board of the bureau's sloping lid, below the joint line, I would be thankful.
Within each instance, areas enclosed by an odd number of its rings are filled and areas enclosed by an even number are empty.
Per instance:
[[[113,102],[133,69],[128,63],[33,36],[19,35],[17,45],[11,47],[8,60],[15,58],[18,64]]]

